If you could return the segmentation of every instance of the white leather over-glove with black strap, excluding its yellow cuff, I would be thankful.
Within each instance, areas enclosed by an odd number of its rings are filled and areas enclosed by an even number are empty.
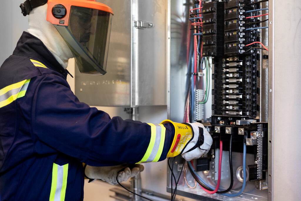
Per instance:
[[[194,135],[183,150],[182,156],[186,161],[191,161],[208,153],[213,140],[203,124],[198,122],[188,124],[191,125]]]

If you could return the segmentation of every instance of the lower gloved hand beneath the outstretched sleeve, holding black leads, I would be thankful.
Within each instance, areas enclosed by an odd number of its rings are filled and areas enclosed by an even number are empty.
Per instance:
[[[90,179],[101,179],[109,184],[116,185],[116,176],[118,174],[118,181],[126,181],[130,177],[135,177],[139,172],[144,170],[144,166],[136,164],[134,167],[129,168],[129,164],[122,164],[116,166],[107,167],[94,167],[90,165],[85,165],[84,171],[85,176]],[[122,170],[123,171],[120,171]],[[119,172],[120,171],[120,172]]]

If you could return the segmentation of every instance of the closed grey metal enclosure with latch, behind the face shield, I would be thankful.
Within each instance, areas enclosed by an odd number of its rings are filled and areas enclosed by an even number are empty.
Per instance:
[[[94,106],[166,105],[167,2],[101,3],[114,12],[107,74],[82,75],[76,68],[76,96]],[[138,29],[138,20],[153,27]]]

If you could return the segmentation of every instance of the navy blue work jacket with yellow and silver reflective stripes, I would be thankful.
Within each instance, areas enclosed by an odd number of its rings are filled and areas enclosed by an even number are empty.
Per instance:
[[[79,102],[66,77],[42,41],[27,32],[2,64],[1,201],[83,200],[82,162],[110,166],[166,158],[172,124],[110,118]]]

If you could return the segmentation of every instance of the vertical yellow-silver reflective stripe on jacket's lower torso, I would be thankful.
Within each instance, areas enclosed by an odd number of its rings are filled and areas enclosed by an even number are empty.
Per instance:
[[[67,188],[68,166],[57,165],[52,166],[52,181],[49,201],[64,201]]]

